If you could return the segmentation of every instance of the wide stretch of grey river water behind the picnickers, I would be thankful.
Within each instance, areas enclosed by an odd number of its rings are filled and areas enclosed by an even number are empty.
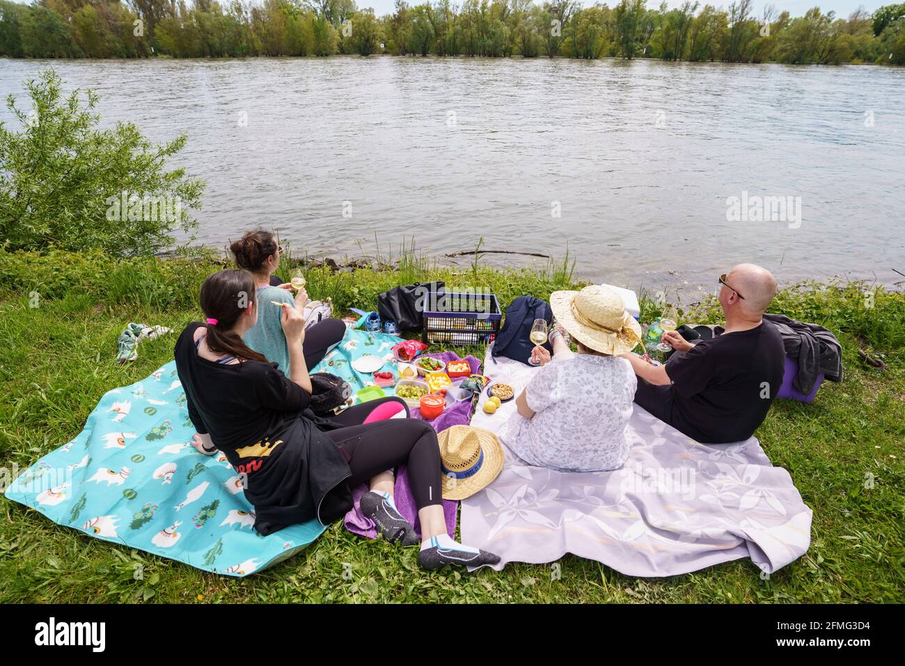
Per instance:
[[[188,134],[176,163],[208,181],[205,244],[263,226],[341,259],[373,254],[375,235],[384,254],[414,236],[433,256],[483,236],[484,249],[568,247],[587,279],[683,293],[742,261],[785,284],[905,280],[892,270],[905,273],[902,68],[2,60],[0,91],[51,64],[100,93],[105,124]],[[758,216],[761,197],[787,205]]]

